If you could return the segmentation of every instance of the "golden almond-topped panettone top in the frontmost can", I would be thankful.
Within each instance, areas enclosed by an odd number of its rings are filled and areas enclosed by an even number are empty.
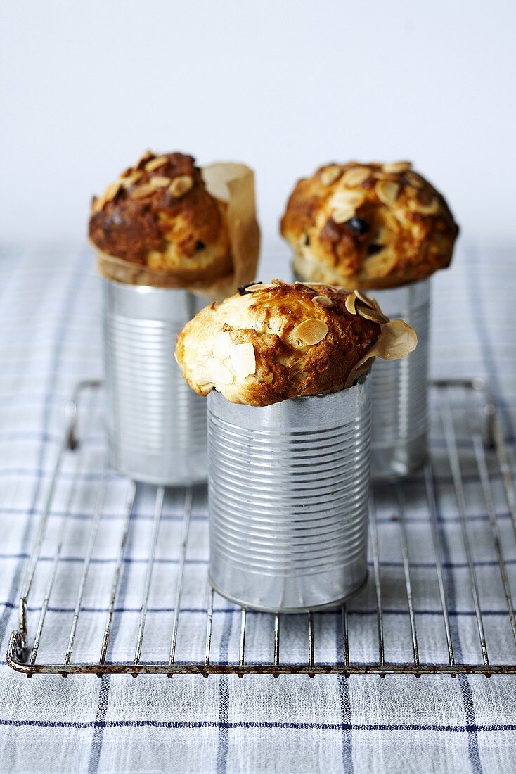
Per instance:
[[[339,389],[378,340],[378,305],[330,286],[243,287],[186,323],[176,360],[190,387],[269,406]],[[378,322],[376,321],[378,320]]]

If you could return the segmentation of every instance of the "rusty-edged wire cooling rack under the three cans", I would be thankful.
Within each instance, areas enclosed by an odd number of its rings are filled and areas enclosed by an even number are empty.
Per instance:
[[[373,488],[364,591],[338,611],[299,615],[237,608],[209,587],[206,490],[136,485],[112,471],[101,394],[101,382],[81,382],[67,405],[12,669],[516,673],[513,450],[482,382],[432,382],[428,464]]]

